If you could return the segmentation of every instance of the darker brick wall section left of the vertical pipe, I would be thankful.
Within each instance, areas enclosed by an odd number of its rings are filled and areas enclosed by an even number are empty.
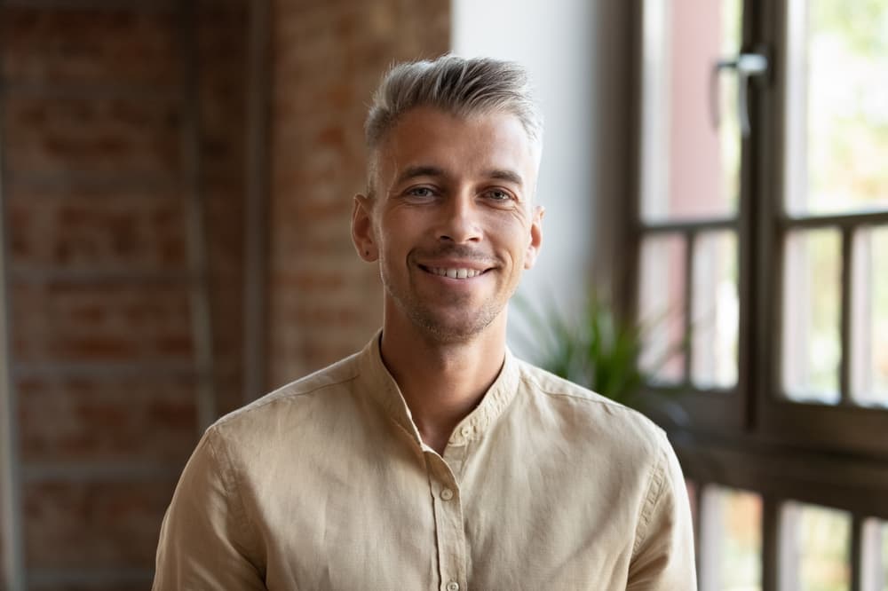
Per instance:
[[[148,586],[202,430],[203,274],[210,408],[242,404],[246,4],[205,0],[194,18],[185,3],[90,4],[0,14],[29,588]],[[195,198],[203,261],[189,249]]]

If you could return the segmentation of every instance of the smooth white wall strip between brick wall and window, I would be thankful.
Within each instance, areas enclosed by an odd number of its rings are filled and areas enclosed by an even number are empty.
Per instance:
[[[519,294],[535,301],[551,294],[571,308],[591,281],[596,4],[590,0],[453,0],[452,4],[454,53],[515,60],[533,79],[545,118],[537,202],[546,214],[540,259],[525,274]],[[517,316],[512,306],[513,325]],[[511,345],[529,354],[513,339]]]

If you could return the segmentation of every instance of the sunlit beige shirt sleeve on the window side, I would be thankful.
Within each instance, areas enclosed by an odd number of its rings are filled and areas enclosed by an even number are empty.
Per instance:
[[[627,591],[695,591],[697,588],[694,526],[685,478],[665,436],[641,512],[626,588]]]

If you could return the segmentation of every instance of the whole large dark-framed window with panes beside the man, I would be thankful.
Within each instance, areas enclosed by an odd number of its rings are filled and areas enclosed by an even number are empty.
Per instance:
[[[885,591],[888,4],[640,6],[632,296],[701,588]]]

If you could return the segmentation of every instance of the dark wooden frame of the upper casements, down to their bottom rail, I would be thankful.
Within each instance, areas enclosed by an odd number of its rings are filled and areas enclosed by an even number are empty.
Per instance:
[[[640,28],[642,0],[636,3],[636,27]],[[738,331],[738,380],[728,389],[700,389],[689,383],[674,387],[646,388],[648,399],[655,390],[678,390],[679,404],[691,417],[687,430],[717,431],[739,437],[755,437],[777,445],[800,446],[805,449],[833,453],[862,453],[888,460],[888,409],[852,405],[848,401],[850,310],[844,305],[849,299],[852,228],[865,225],[888,225],[888,212],[848,214],[837,216],[789,217],[782,209],[781,195],[784,177],[783,162],[785,138],[783,125],[785,78],[781,63],[774,59],[785,46],[786,14],[784,2],[765,3],[746,0],[744,12],[743,49],[776,48],[770,54],[771,68],[767,80],[750,81],[749,116],[753,134],[744,138],[741,146],[741,200],[735,221],[694,220],[688,222],[646,223],[640,215],[640,188],[637,180],[630,211],[629,242],[625,252],[631,256],[629,293],[623,301],[630,303],[630,313],[637,313],[638,282],[640,279],[640,247],[646,236],[661,232],[680,233],[686,248],[685,285],[690,295],[691,258],[694,240],[700,232],[733,229],[738,240],[740,327]],[[751,8],[751,10],[749,10]],[[642,50],[642,34],[636,31]],[[637,146],[641,146],[641,68],[635,76],[635,130]],[[640,179],[643,163],[640,150],[635,151],[633,177]],[[836,227],[843,232],[843,311],[841,390],[843,400],[836,406],[791,401],[781,388],[781,326],[782,261],[784,239],[788,232],[803,227]],[[686,309],[691,297],[686,298]],[[690,329],[691,315],[685,314],[686,328]],[[686,347],[686,368],[691,363]],[[687,380],[686,380],[687,382]],[[654,407],[649,410],[657,418]],[[665,419],[665,417],[662,417]],[[669,424],[668,421],[666,421]],[[671,424],[673,429],[680,425]]]

